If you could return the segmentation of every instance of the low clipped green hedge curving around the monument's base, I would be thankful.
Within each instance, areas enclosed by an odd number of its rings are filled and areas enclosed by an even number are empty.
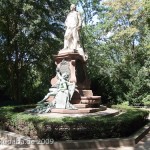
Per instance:
[[[118,116],[46,118],[23,112],[30,106],[0,108],[0,128],[30,136],[33,139],[53,138],[80,140],[128,137],[145,125],[149,112],[129,108]]]

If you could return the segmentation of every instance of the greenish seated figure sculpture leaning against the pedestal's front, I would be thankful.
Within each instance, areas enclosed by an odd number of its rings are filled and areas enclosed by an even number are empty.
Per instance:
[[[69,82],[69,74],[63,73],[61,75],[58,69],[56,71],[58,78],[56,85],[49,89],[49,93],[42,101],[37,103],[37,107],[32,112],[47,113],[53,108],[77,109],[70,103],[75,91],[75,83]],[[47,100],[50,96],[54,96],[54,100],[48,102]]]

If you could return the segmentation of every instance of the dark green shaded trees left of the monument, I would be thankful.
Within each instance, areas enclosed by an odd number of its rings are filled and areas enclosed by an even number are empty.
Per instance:
[[[67,0],[0,1],[0,91],[16,102],[46,93],[68,8]]]

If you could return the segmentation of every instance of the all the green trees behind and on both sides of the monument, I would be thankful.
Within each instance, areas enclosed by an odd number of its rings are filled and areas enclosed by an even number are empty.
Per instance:
[[[1,0],[0,97],[31,103],[47,93],[70,3],[82,9],[81,44],[89,56],[87,71],[94,94],[101,95],[103,103],[146,104],[149,0]]]

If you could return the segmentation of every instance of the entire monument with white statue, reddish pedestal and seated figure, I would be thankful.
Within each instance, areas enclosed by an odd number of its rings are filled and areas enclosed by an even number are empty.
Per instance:
[[[35,112],[92,113],[100,111],[100,96],[93,96],[86,73],[87,55],[80,45],[81,16],[70,6],[65,21],[64,48],[55,55],[56,76]]]

